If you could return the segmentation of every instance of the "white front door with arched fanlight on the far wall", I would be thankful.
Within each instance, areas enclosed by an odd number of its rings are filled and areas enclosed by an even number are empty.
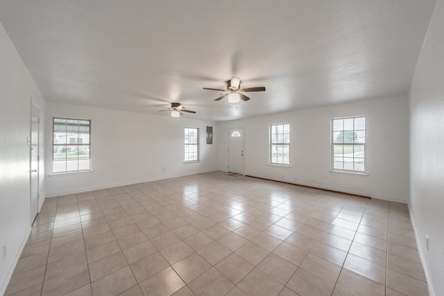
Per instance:
[[[244,128],[230,128],[228,137],[228,171],[244,175]]]

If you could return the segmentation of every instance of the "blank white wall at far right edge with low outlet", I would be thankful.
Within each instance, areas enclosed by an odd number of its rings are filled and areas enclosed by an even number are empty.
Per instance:
[[[411,220],[432,295],[444,295],[444,1],[432,21],[410,89]],[[425,235],[429,236],[429,250]]]

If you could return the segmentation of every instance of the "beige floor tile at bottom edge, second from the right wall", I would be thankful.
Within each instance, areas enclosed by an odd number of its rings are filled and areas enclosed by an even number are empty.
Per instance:
[[[362,296],[384,296],[385,286],[358,275],[347,268],[341,270],[336,287],[351,294]]]

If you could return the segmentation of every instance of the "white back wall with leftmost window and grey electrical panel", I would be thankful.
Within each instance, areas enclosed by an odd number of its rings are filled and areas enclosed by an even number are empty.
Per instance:
[[[159,180],[217,170],[217,123],[171,116],[46,104],[46,145],[52,144],[53,116],[91,119],[92,172],[51,175],[51,149],[46,158],[46,196]],[[206,126],[214,130],[206,144]],[[200,162],[183,163],[184,128],[199,128]],[[165,171],[164,171],[165,169]]]

